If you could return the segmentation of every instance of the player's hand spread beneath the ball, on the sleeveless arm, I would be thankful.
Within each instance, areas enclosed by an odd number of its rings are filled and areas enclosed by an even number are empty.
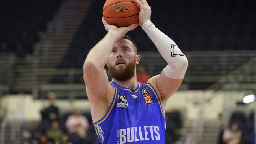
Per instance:
[[[121,28],[117,28],[114,25],[110,25],[106,22],[106,20],[104,19],[104,17],[102,17],[102,22],[104,24],[104,27],[106,29],[106,31],[113,31],[116,35],[118,39],[121,39],[124,37],[124,35],[128,32],[128,31],[132,31],[135,28],[137,28],[137,24],[132,24],[128,27],[121,27]]]

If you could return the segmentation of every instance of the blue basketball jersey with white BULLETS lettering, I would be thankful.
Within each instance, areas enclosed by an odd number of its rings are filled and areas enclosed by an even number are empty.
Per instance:
[[[115,87],[105,116],[94,123],[98,144],[165,144],[165,117],[160,98],[150,83],[135,90]]]

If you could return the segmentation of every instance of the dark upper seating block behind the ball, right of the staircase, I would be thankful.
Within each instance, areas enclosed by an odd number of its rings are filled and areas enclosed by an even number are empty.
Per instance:
[[[152,22],[183,51],[255,50],[253,0],[148,0],[148,3],[152,7]],[[104,37],[106,31],[100,18],[103,5],[104,1],[94,2],[59,67],[80,68],[89,50]],[[156,51],[141,28],[128,35],[137,43],[138,51]]]

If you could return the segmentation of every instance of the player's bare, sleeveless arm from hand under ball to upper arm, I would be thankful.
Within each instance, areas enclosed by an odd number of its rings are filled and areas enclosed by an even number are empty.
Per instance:
[[[98,96],[104,95],[108,87],[111,87],[104,66],[108,61],[115,43],[124,37],[128,31],[137,27],[136,24],[133,24],[129,27],[117,28],[107,24],[103,18],[102,22],[108,33],[91,49],[83,65],[86,92],[91,102],[97,100]]]

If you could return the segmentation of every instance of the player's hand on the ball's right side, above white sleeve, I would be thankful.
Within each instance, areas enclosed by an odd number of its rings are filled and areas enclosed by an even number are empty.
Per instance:
[[[151,7],[146,0],[135,0],[139,5],[139,25],[142,27],[147,20],[151,20]]]

